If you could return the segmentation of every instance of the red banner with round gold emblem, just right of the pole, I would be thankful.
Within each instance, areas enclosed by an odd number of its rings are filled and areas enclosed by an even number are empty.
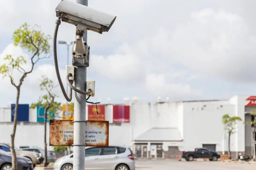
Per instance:
[[[105,105],[88,105],[88,120],[105,121]]]

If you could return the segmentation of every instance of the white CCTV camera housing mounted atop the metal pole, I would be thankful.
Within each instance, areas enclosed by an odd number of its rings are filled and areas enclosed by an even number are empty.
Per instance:
[[[61,17],[63,22],[75,26],[84,26],[87,30],[95,31],[99,34],[105,31],[108,32],[116,20],[114,15],[64,0],[61,0],[55,11],[56,16]]]

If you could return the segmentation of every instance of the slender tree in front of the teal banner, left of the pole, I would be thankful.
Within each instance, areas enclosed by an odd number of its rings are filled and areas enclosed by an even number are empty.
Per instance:
[[[61,111],[61,103],[55,102],[56,94],[52,90],[56,87],[52,80],[45,76],[42,76],[42,81],[40,84],[41,91],[46,91],[47,94],[40,96],[36,103],[32,103],[31,108],[36,108],[40,106],[44,108],[44,167],[47,167],[47,141],[46,141],[46,125],[47,125],[47,113],[58,113]],[[49,116],[49,115],[48,115]]]

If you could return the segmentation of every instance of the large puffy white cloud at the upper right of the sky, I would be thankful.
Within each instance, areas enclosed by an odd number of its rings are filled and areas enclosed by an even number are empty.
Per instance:
[[[168,43],[173,60],[203,74],[232,81],[251,81],[247,71],[256,62],[255,37],[236,14],[204,9],[177,27]]]

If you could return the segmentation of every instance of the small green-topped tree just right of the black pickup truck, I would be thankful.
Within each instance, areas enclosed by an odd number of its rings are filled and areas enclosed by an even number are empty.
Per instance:
[[[231,159],[230,156],[230,136],[235,133],[236,124],[242,121],[241,117],[233,116],[230,117],[228,114],[222,116],[222,123],[224,124],[224,130],[227,130],[228,133],[228,157]]]

